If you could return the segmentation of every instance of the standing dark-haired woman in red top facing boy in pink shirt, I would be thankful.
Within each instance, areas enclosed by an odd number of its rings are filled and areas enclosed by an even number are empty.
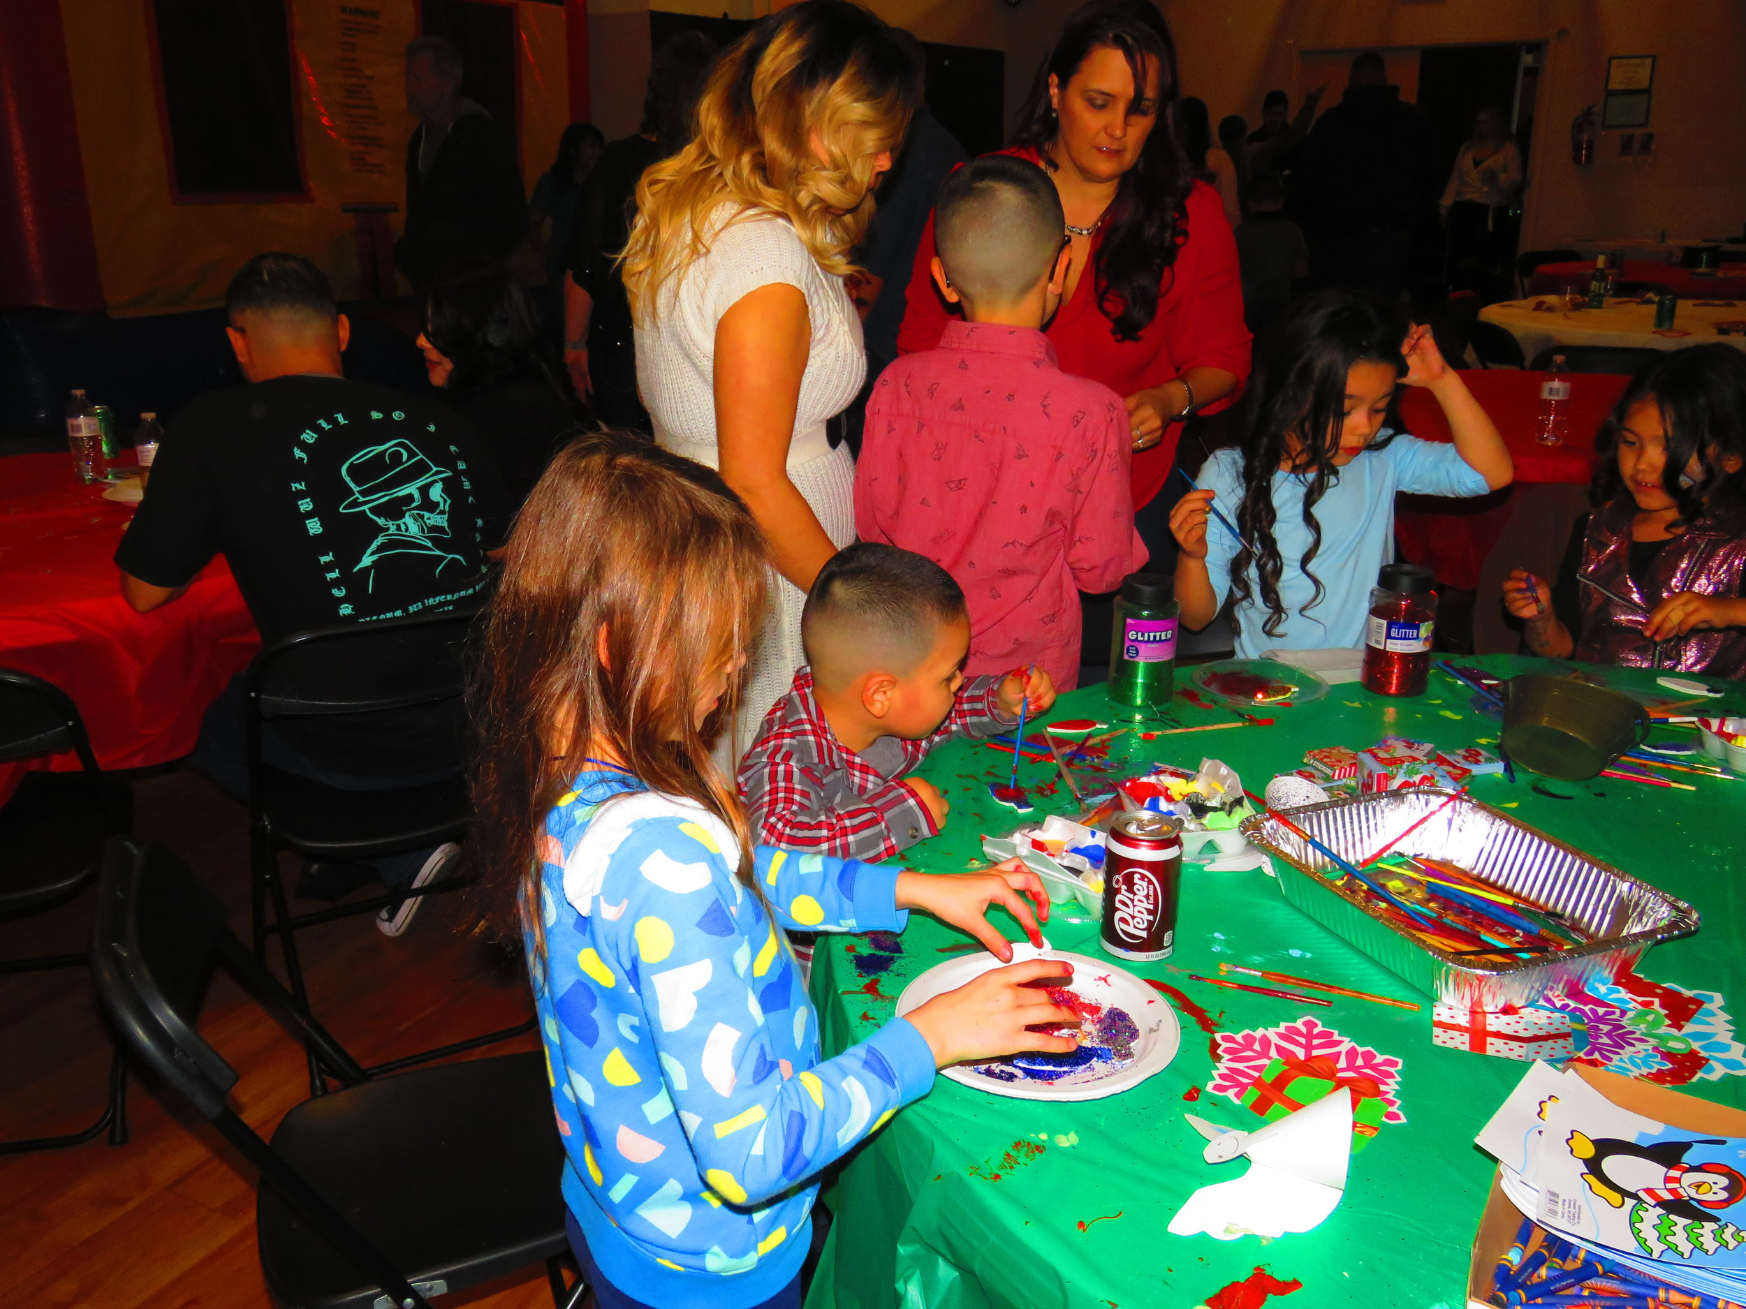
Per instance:
[[[1062,195],[1072,264],[1046,332],[1065,372],[1128,400],[1133,506],[1154,565],[1173,553],[1170,504],[1186,487],[1165,483],[1182,419],[1224,408],[1248,377],[1236,241],[1219,192],[1193,180],[1168,127],[1154,131],[1175,94],[1163,16],[1145,0],[1093,0],[1037,70],[1007,150],[1048,169]],[[932,258],[929,218],[897,335],[906,354],[938,346],[946,326]]]

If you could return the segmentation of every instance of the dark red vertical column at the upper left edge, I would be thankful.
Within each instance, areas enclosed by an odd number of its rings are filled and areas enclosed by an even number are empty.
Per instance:
[[[17,304],[103,309],[56,0],[0,3],[0,305]]]

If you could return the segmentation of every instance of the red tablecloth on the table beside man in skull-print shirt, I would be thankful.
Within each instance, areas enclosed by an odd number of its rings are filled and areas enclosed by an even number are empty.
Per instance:
[[[101,492],[65,454],[0,459],[0,665],[66,691],[105,768],[141,768],[194,749],[206,707],[260,639],[223,559],[136,614],[113,560],[133,508]],[[0,801],[26,768],[77,766],[72,754],[0,764]]]

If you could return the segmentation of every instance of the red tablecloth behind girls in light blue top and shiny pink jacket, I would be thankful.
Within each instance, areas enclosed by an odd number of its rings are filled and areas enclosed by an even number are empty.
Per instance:
[[[1540,380],[1545,374],[1517,368],[1475,368],[1461,380],[1503,433],[1516,461],[1516,485],[1568,482],[1587,485],[1594,471],[1594,433],[1626,389],[1629,379],[1612,374],[1575,374],[1570,379],[1570,421],[1563,445],[1540,445],[1533,436],[1540,412]],[[1400,396],[1400,421],[1428,442],[1454,440],[1442,407],[1423,387]],[[1437,508],[1432,510],[1430,504]],[[1509,497],[1486,497],[1474,504],[1404,497],[1395,513],[1395,534],[1406,557],[1433,569],[1451,586],[1479,585],[1479,567],[1510,520]]]

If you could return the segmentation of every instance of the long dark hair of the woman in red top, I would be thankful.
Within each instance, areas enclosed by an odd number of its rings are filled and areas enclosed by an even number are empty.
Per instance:
[[[1194,188],[1166,117],[1177,96],[1177,47],[1165,16],[1147,0],[1091,0],[1081,7],[1037,68],[1013,145],[1035,150],[1042,166],[1055,169],[1049,147],[1060,133],[1060,119],[1049,108],[1049,77],[1065,89],[1086,56],[1103,45],[1126,58],[1137,93],[1145,87],[1147,65],[1158,66],[1158,105],[1152,108],[1158,120],[1138,162],[1121,176],[1091,265],[1098,309],[1110,319],[1116,340],[1137,340],[1152,325],[1165,271],[1187,241],[1187,195]]]

